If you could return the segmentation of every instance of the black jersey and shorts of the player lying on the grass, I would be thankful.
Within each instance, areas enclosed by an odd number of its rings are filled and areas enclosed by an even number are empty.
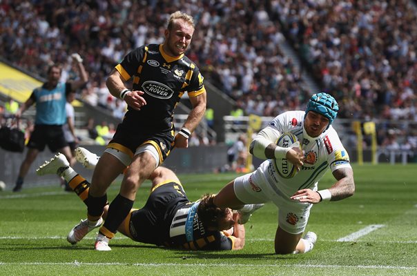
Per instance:
[[[234,237],[207,230],[191,202],[174,181],[154,188],[144,208],[130,217],[130,236],[137,242],[188,250],[231,250]]]

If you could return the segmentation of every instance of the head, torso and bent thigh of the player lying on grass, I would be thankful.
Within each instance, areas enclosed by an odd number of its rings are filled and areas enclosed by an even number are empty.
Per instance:
[[[136,242],[187,250],[238,250],[244,246],[244,226],[237,213],[217,208],[212,195],[191,202],[175,173],[157,168],[150,179],[151,195],[144,208],[131,210],[120,233]]]

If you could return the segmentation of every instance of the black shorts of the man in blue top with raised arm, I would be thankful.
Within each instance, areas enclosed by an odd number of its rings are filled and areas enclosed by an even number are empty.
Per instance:
[[[46,145],[52,152],[57,152],[68,146],[61,125],[35,125],[35,129],[30,135],[28,148],[43,151]]]

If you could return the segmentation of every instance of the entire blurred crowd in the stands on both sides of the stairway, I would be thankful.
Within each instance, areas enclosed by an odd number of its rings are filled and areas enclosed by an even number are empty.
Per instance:
[[[235,99],[233,112],[304,109],[312,91],[279,48],[288,34],[301,70],[340,102],[340,118],[417,121],[417,11],[408,0],[3,0],[0,56],[39,74],[63,63],[70,77],[69,55],[79,52],[90,74],[84,101],[121,118],[126,104],[105,76],[129,50],[162,43],[175,10],[195,18],[187,55]]]

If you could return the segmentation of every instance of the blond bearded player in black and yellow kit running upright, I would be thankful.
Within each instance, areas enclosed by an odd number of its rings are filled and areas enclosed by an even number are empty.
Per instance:
[[[100,225],[108,186],[121,172],[124,172],[124,179],[99,229],[96,250],[111,250],[108,241],[132,208],[139,186],[162,164],[174,146],[188,147],[188,137],[204,117],[203,77],[184,55],[194,28],[193,17],[174,12],[168,19],[164,43],[142,46],[128,53],[106,81],[110,93],[126,101],[128,111],[93,173],[87,204],[88,231]],[[130,80],[133,81],[131,90],[125,86]],[[174,136],[173,110],[185,92],[193,109]],[[77,232],[79,227],[73,230]],[[82,235],[88,231],[80,230]],[[77,236],[81,237],[81,233]]]

